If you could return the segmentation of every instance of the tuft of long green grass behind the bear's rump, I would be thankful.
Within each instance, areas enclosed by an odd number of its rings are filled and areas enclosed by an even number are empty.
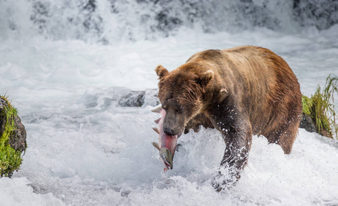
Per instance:
[[[335,93],[338,93],[338,78],[330,74],[326,79],[323,90],[318,85],[317,90],[311,98],[302,96],[303,113],[310,115],[315,122],[317,132],[326,137],[333,137],[338,133],[335,111]]]

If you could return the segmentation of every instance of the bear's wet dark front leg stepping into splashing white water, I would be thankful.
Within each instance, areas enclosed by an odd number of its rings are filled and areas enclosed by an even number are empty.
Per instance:
[[[246,165],[251,148],[252,130],[246,118],[235,117],[231,121],[218,122],[226,148],[220,163],[220,171],[215,177],[213,186],[220,192],[229,188],[240,179],[240,172]]]

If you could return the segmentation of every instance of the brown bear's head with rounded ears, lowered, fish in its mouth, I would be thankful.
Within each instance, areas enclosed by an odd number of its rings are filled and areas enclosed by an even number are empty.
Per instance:
[[[176,69],[169,72],[159,65],[155,71],[159,77],[158,98],[165,110],[163,131],[167,135],[182,133],[189,120],[203,109],[203,94],[213,78],[213,71]]]

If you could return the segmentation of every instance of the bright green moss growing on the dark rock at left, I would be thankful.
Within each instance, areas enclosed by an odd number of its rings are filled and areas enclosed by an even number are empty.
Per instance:
[[[10,147],[9,138],[14,133],[14,116],[17,110],[10,105],[6,97],[0,96],[8,103],[1,110],[0,117],[3,118],[3,128],[0,133],[0,176],[12,176],[14,170],[19,170],[22,159],[21,152]]]

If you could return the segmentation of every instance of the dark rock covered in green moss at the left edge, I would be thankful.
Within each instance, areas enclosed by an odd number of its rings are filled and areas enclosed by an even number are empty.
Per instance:
[[[22,163],[21,154],[27,148],[25,126],[17,110],[0,96],[0,176],[12,176]]]

